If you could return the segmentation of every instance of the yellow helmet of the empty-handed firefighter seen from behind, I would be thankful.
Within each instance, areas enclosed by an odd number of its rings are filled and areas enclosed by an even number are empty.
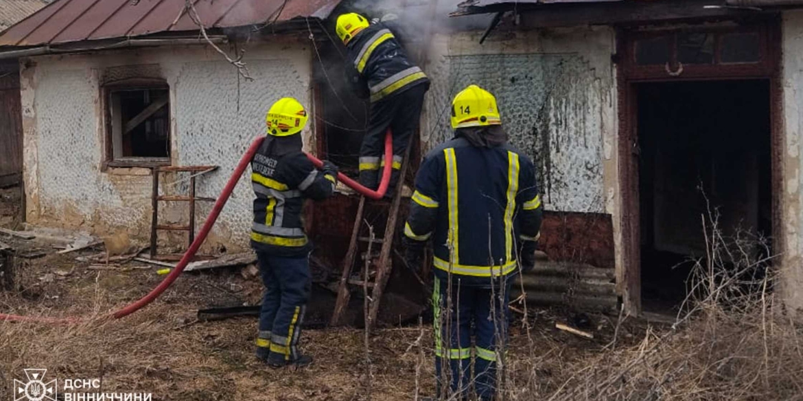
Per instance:
[[[471,85],[454,96],[452,102],[452,128],[501,125],[496,98],[491,92]]]

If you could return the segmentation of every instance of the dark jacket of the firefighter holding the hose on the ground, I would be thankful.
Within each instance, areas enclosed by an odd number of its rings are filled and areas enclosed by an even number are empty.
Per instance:
[[[251,247],[279,257],[306,256],[312,243],[304,233],[304,199],[332,196],[336,178],[317,170],[300,150],[279,151],[281,146],[271,146],[273,140],[286,138],[269,137],[251,161],[256,194]]]

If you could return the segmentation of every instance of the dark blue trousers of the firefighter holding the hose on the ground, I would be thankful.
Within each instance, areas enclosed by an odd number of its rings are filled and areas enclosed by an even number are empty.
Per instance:
[[[299,358],[298,342],[312,278],[308,255],[277,257],[257,252],[266,291],[259,313],[257,356],[282,363]]]

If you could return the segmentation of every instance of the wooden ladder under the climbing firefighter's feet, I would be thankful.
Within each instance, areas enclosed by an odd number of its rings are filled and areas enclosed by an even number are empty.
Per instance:
[[[365,326],[368,327],[369,330],[373,330],[373,327],[376,325],[382,294],[385,292],[385,286],[387,286],[390,273],[393,271],[393,262],[391,260],[393,251],[393,237],[396,233],[399,207],[402,205],[402,189],[404,188],[407,169],[410,165],[410,148],[412,148],[412,145],[413,138],[411,137],[410,144],[407,145],[404,160],[402,161],[402,169],[399,172],[399,180],[396,184],[396,192],[393,192],[393,201],[390,203],[390,209],[387,215],[388,218],[385,223],[385,235],[383,237],[368,237],[365,235],[365,231],[361,229],[363,227],[363,216],[365,214],[365,196],[360,197],[360,205],[357,207],[357,218],[354,219],[351,241],[349,242],[349,251],[346,253],[346,257],[343,261],[343,273],[340,277],[340,285],[337,288],[337,302],[335,304],[335,311],[332,314],[332,319],[329,322],[329,326],[340,325],[343,314],[345,313],[346,308],[349,306],[352,287],[357,287],[359,289],[367,287],[370,289],[371,294],[365,294],[365,297],[368,297],[370,301],[369,314],[368,319],[365,322]],[[363,234],[361,235],[361,233]],[[372,241],[373,244],[382,245],[379,258],[376,261],[373,261],[373,255],[365,254],[365,257],[369,259],[368,263],[373,265],[373,268],[376,271],[375,275],[370,277],[369,274],[369,277],[365,277],[366,274],[363,273],[363,277],[361,278],[353,277],[354,273],[356,273],[355,270],[357,272],[362,271],[362,269],[353,269],[359,244],[361,242],[366,243]]]

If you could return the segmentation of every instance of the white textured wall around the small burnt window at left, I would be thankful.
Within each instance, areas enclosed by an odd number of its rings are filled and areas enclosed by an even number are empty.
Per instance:
[[[173,165],[220,166],[198,180],[198,196],[217,197],[243,152],[263,133],[267,107],[283,96],[304,104],[311,99],[311,53],[303,43],[287,39],[251,45],[245,61],[252,82],[238,79],[234,67],[204,47],[22,60],[28,221],[100,235],[124,230],[132,237],[149,237],[149,170],[102,171],[106,136],[100,83],[110,74],[130,75],[132,69],[169,84]],[[178,178],[165,175],[163,182]],[[247,245],[253,196],[247,181],[241,180],[234,191],[208,244]],[[167,192],[185,190],[177,185]],[[186,224],[185,204],[161,205],[166,205],[161,223]],[[209,210],[210,205],[198,208],[198,226]]]

